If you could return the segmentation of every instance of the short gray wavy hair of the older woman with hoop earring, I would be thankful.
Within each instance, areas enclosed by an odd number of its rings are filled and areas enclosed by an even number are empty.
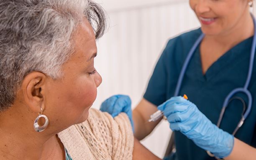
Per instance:
[[[0,112],[13,105],[28,73],[61,77],[61,65],[74,53],[72,33],[84,17],[101,37],[105,13],[91,0],[0,0]]]

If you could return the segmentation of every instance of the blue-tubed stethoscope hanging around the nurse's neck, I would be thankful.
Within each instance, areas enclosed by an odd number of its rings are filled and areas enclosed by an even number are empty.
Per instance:
[[[254,25],[254,34],[256,34],[256,20],[253,17],[253,15],[251,15],[251,17],[253,18],[253,25]],[[182,80],[184,77],[184,74],[186,72],[187,66],[189,64],[189,61],[191,60],[192,55],[194,54],[197,46],[200,44],[200,42],[202,42],[202,39],[205,37],[205,34],[201,34],[200,37],[198,37],[198,39],[196,40],[195,44],[192,46],[192,48],[190,49],[187,58],[182,66],[182,70],[179,74],[179,79],[177,82],[177,86],[174,92],[174,96],[178,96],[179,95],[179,91],[180,91],[180,87],[182,84]],[[217,126],[220,127],[220,123],[221,120],[223,118],[224,112],[226,107],[228,106],[229,102],[231,102],[234,99],[238,99],[241,100],[241,102],[243,103],[243,112],[241,114],[241,120],[238,122],[238,125],[236,127],[236,129],[233,132],[233,135],[236,134],[237,130],[243,125],[244,120],[246,120],[246,118],[248,117],[249,113],[251,112],[251,105],[252,105],[252,96],[251,96],[251,92],[248,90],[248,85],[250,83],[251,80],[251,75],[252,75],[252,71],[253,71],[253,61],[254,61],[254,55],[255,55],[255,47],[256,47],[256,36],[253,36],[253,42],[252,42],[252,46],[251,46],[251,57],[250,57],[250,64],[249,64],[249,69],[248,69],[248,75],[247,75],[247,79],[246,79],[246,83],[243,87],[240,88],[236,88],[234,90],[232,90],[228,96],[225,98],[225,101],[223,103],[223,107],[222,110],[220,112],[220,116],[218,119],[218,123]],[[241,97],[233,97],[233,95],[235,95],[238,92],[242,92],[244,94],[246,94],[246,96],[248,97],[248,107],[246,109],[246,104],[244,102],[244,100]],[[208,153],[208,152],[207,152]],[[213,157],[214,155],[211,154],[211,156]]]

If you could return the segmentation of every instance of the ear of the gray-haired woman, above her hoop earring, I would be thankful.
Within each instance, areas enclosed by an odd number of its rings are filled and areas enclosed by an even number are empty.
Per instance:
[[[24,78],[21,89],[26,105],[33,112],[44,110],[44,97],[47,76],[41,72],[31,72]]]

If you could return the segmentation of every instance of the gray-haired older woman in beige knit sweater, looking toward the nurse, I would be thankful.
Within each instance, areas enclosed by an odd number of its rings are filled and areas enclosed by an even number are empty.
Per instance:
[[[88,117],[104,30],[90,0],[0,0],[1,160],[158,159],[124,113]]]

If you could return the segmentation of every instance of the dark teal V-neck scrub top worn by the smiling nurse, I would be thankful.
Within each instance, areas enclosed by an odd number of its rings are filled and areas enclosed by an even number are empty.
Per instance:
[[[174,96],[184,60],[201,33],[202,31],[199,28],[169,40],[148,82],[148,87],[143,96],[146,100],[158,106]],[[214,124],[218,121],[220,110],[228,93],[237,87],[243,87],[246,82],[252,40],[253,37],[249,37],[228,50],[209,67],[205,75],[202,73],[199,47],[197,47],[189,62],[179,95],[186,94],[189,100],[195,103],[199,110]],[[248,145],[256,147],[255,60],[248,90],[253,97],[251,113],[235,137]],[[243,97],[246,104],[248,103],[245,95],[242,93],[236,95]],[[241,101],[233,100],[230,102],[220,128],[232,134],[241,119],[242,110]],[[210,158],[205,150],[197,147],[192,140],[177,131],[175,131],[175,142],[178,160],[215,160]]]

